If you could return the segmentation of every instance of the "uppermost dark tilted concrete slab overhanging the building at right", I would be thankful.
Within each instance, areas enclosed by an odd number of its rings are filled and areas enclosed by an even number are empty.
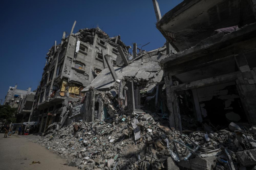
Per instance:
[[[157,29],[176,50],[184,51],[210,37],[216,29],[254,22],[245,0],[184,0],[157,22]]]

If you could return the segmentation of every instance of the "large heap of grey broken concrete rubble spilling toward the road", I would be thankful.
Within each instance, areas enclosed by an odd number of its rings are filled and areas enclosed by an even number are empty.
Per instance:
[[[81,169],[256,169],[256,127],[176,131],[157,114],[115,114],[74,122],[37,142]],[[203,128],[202,128],[203,129]]]

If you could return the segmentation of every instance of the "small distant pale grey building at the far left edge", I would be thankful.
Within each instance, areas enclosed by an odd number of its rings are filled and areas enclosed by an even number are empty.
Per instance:
[[[21,100],[24,99],[27,95],[35,94],[35,91],[31,91],[31,87],[29,87],[27,90],[19,90],[17,89],[17,85],[15,85],[15,87],[9,87],[3,105],[9,105],[12,108],[17,108]]]

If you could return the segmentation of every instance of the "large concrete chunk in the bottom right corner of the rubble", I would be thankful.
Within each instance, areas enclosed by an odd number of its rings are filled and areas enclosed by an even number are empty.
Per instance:
[[[256,149],[237,152],[236,155],[243,166],[256,165]]]

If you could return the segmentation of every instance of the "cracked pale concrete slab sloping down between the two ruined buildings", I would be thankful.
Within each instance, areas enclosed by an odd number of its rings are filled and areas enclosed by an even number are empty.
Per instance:
[[[158,62],[165,59],[166,47],[159,48],[153,51],[149,51],[143,54],[142,57],[137,60],[133,60],[133,63],[130,63],[128,66],[114,67],[116,75],[119,80],[122,80],[124,77],[136,77],[137,79],[153,79],[153,81],[158,82],[162,80],[163,71]],[[159,78],[158,76],[161,76]],[[101,73],[91,82],[88,87],[82,90],[82,93],[85,93],[94,87],[97,90],[110,90],[115,84],[108,68],[105,68]]]

